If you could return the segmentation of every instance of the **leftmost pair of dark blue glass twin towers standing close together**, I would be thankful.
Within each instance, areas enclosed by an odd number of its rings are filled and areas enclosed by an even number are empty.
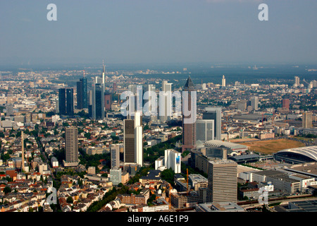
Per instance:
[[[74,114],[74,90],[73,88],[58,89],[58,112],[62,115]]]

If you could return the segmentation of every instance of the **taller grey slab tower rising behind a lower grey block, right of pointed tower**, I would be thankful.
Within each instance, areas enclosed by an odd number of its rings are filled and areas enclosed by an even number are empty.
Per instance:
[[[214,140],[221,140],[221,108],[220,107],[206,107],[203,113],[203,119],[213,119]]]

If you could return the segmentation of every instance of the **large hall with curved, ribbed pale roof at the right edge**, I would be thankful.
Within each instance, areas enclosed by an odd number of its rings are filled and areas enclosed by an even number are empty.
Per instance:
[[[278,157],[287,157],[289,159],[298,160],[299,162],[317,161],[317,145],[302,148],[288,148],[275,153]]]

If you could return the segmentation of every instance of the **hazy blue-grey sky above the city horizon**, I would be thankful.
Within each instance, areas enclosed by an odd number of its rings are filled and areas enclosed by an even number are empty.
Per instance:
[[[317,63],[316,22],[316,0],[0,0],[0,65]]]

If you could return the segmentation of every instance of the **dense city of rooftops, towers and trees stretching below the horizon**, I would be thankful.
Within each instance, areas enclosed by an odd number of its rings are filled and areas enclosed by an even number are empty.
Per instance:
[[[300,77],[1,71],[0,211],[316,212],[317,82]],[[196,120],[124,117],[121,94],[140,86],[195,92]]]

